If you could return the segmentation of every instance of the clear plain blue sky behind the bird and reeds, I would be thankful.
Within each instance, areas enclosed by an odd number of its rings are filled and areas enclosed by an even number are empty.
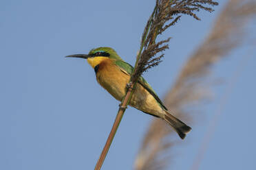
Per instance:
[[[144,75],[161,98],[225,3],[212,14],[200,12],[202,21],[184,17],[164,34],[173,37],[164,62]],[[134,64],[154,5],[153,0],[0,1],[0,169],[94,169],[119,102],[97,84],[85,60],[64,56],[108,46]],[[253,24],[250,30],[256,28]],[[213,103],[191,125],[184,145],[172,152],[170,169],[191,168],[207,125],[243,60],[247,62],[231,88],[200,169],[256,169],[252,49],[244,46],[213,68],[211,76],[223,78],[224,84],[215,88]],[[151,119],[134,108],[125,112],[103,169],[132,169]]]

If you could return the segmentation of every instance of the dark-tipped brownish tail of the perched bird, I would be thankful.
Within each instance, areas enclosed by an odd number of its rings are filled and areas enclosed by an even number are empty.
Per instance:
[[[173,129],[178,133],[180,138],[184,139],[186,134],[189,133],[191,127],[180,121],[179,119],[173,117],[169,112],[165,110],[164,121],[166,121]]]

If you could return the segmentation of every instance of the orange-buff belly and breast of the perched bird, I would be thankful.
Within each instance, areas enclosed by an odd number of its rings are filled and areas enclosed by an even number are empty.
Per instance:
[[[130,76],[122,73],[122,71],[100,71],[96,75],[98,83],[103,86],[115,99],[121,101],[126,93],[126,86],[129,82]],[[163,114],[162,107],[158,104],[156,99],[139,83],[136,84],[136,89],[131,96],[130,106],[161,116]]]

